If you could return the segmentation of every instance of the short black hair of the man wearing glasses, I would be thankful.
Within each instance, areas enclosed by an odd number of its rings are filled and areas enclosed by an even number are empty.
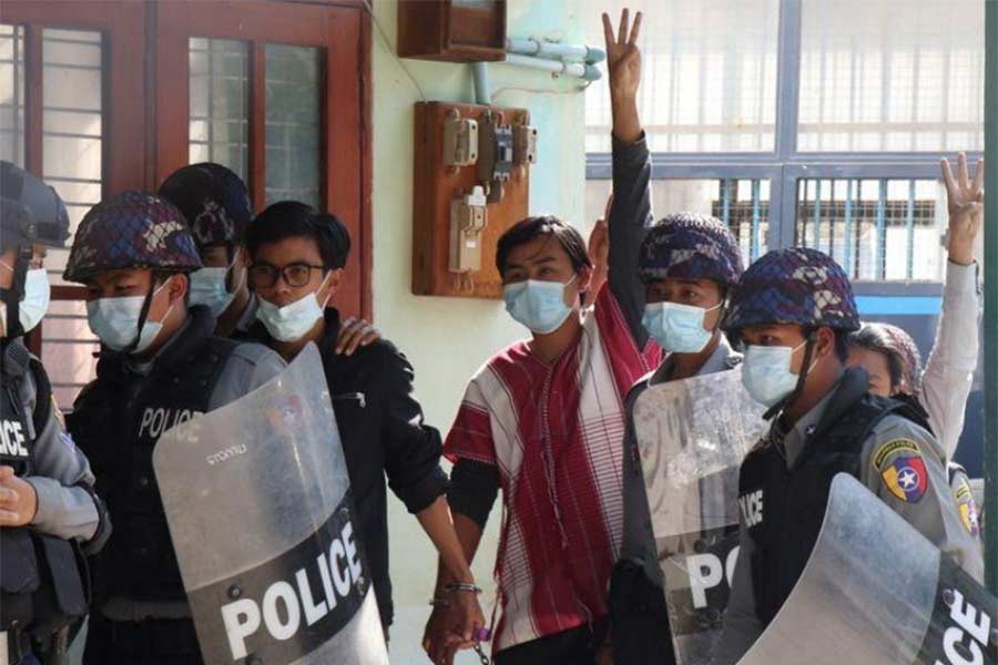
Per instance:
[[[305,237],[315,241],[326,269],[346,265],[350,254],[350,234],[336,215],[319,213],[299,201],[279,201],[268,205],[246,233],[249,256],[256,256],[261,245],[284,238]]]

